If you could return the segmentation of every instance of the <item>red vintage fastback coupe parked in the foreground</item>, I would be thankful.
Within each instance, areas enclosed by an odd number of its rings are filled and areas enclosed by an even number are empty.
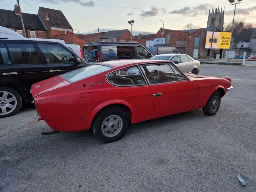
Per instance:
[[[230,77],[183,73],[173,62],[114,60],[33,84],[36,110],[55,131],[92,128],[102,142],[120,139],[129,122],[203,108],[215,115]]]

